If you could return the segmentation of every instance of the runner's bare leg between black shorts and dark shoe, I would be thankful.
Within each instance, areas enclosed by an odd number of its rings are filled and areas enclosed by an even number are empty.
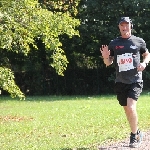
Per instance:
[[[132,98],[127,98],[127,106],[123,106],[131,128],[131,132],[133,134],[137,133],[138,130],[138,116],[136,111],[136,104],[137,101],[133,100]]]

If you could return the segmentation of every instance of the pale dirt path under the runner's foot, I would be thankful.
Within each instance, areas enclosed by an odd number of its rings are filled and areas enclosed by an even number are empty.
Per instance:
[[[99,146],[99,150],[150,150],[150,131],[144,132],[143,142],[139,148],[129,148],[129,138],[110,145]]]

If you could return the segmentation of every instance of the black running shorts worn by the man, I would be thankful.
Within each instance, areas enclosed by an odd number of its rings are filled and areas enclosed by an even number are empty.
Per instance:
[[[127,106],[127,98],[132,98],[137,101],[143,88],[143,82],[125,84],[116,82],[114,91],[117,94],[117,99],[121,106]]]

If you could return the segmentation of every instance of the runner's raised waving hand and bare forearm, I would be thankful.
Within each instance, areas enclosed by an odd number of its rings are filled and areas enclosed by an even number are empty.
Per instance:
[[[108,46],[107,45],[102,45],[102,47],[100,48],[100,52],[102,54],[103,57],[103,61],[106,64],[106,66],[109,66],[113,63],[113,56],[110,56],[110,50],[108,50]]]

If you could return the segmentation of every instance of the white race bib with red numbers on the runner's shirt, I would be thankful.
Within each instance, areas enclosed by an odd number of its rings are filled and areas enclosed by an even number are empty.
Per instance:
[[[132,53],[117,55],[119,72],[134,69]]]

